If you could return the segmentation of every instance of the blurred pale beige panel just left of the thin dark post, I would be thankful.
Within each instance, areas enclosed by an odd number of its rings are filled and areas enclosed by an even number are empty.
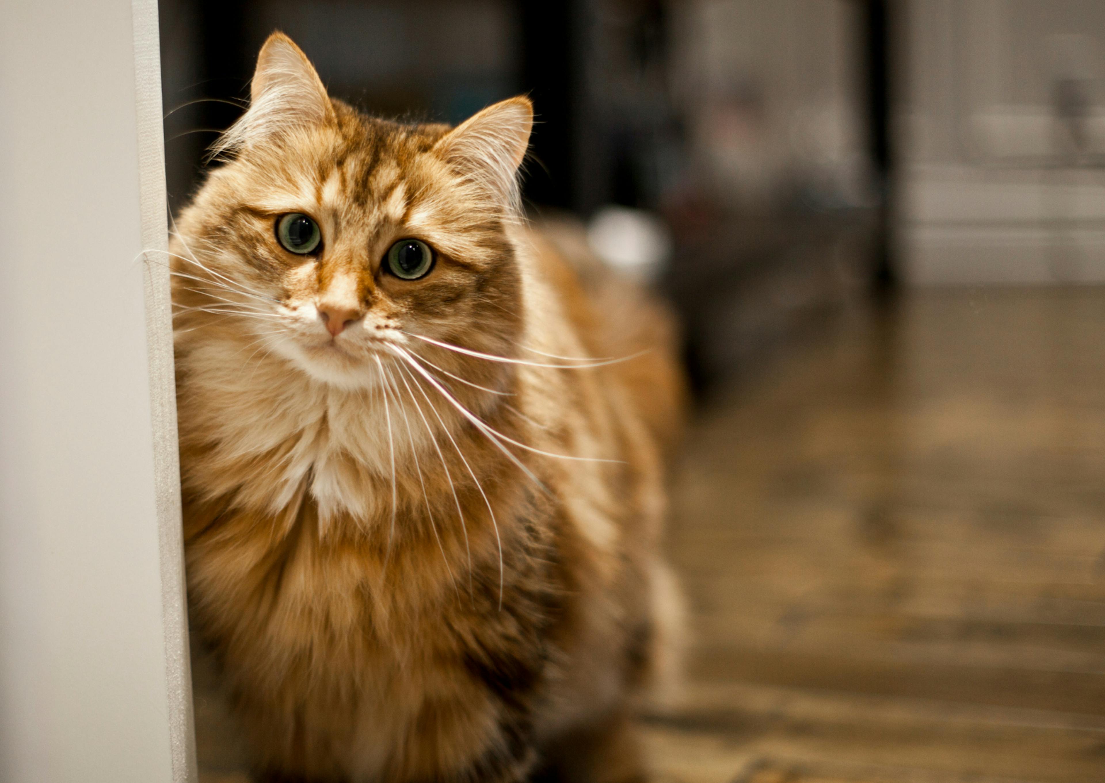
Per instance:
[[[817,182],[867,199],[859,14],[844,0],[701,0],[682,11],[680,95],[722,198],[764,211]]]

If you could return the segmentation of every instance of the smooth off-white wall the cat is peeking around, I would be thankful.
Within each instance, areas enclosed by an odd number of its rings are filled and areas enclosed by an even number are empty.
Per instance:
[[[156,3],[134,11],[148,95]],[[140,261],[139,150],[156,191],[160,141],[138,117],[159,107],[136,103],[130,0],[0,0],[0,781],[182,781],[171,360]]]

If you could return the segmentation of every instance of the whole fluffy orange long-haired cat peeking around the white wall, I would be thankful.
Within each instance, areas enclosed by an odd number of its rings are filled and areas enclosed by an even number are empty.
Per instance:
[[[190,605],[260,780],[643,775],[680,380],[661,310],[525,226],[532,120],[367,117],[274,34],[181,215]]]

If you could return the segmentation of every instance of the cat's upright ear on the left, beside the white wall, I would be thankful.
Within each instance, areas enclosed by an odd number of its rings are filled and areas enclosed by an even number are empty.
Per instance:
[[[261,47],[250,87],[250,108],[212,147],[238,151],[274,137],[335,121],[334,105],[307,55],[284,33]]]

